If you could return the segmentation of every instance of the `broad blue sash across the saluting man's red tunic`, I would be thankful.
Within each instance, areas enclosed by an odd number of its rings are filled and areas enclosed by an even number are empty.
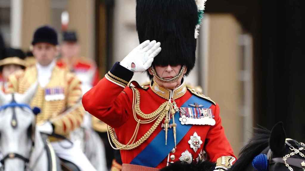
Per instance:
[[[191,96],[182,106],[189,107],[189,104],[199,103],[203,105],[203,108],[210,108],[212,103],[200,99],[197,96]],[[185,134],[191,129],[192,125],[182,125],[179,121],[180,115],[177,112],[174,116],[176,128],[176,141],[177,145]],[[170,123],[173,123],[170,120]],[[175,147],[173,128],[168,129],[167,132],[167,145],[165,145],[165,131],[161,130],[159,134],[147,145],[142,152],[140,152],[130,164],[157,167]]]

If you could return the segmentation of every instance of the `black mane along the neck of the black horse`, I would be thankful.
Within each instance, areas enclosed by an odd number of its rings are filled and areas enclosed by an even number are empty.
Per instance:
[[[239,159],[229,169],[230,171],[245,170],[253,158],[259,155],[265,148],[269,146],[270,133],[268,129],[264,127],[253,128],[254,134],[248,143],[242,148],[239,153]]]

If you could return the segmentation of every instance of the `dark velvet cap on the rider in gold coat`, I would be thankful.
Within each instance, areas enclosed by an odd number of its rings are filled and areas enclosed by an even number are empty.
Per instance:
[[[39,27],[34,33],[32,45],[37,43],[58,45],[56,31],[50,26]]]

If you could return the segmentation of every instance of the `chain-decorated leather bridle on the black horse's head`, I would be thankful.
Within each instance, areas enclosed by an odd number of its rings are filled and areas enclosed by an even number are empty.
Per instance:
[[[282,163],[284,164],[286,167],[288,167],[288,169],[290,171],[293,171],[291,166],[295,166],[298,167],[300,169],[303,169],[305,171],[305,156],[304,154],[301,152],[302,150],[305,150],[305,144],[304,143],[299,143],[297,141],[298,144],[301,145],[300,148],[294,148],[288,141],[295,141],[292,139],[287,138],[285,141],[285,144],[289,146],[289,149],[292,151],[291,153],[285,155],[284,157],[277,157],[277,158],[273,158],[272,159],[272,151],[271,149],[269,149],[268,153],[267,153],[267,159],[268,159],[268,163],[269,165],[271,164],[276,164],[276,163]],[[296,159],[296,158],[290,158],[293,155],[299,154],[301,157],[303,157],[304,159]]]

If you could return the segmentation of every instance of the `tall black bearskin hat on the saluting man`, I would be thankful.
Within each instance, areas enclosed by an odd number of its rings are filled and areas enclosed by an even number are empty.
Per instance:
[[[185,65],[185,75],[188,75],[196,60],[194,35],[197,21],[195,0],[137,0],[136,24],[140,43],[156,40],[162,47],[152,66]]]

